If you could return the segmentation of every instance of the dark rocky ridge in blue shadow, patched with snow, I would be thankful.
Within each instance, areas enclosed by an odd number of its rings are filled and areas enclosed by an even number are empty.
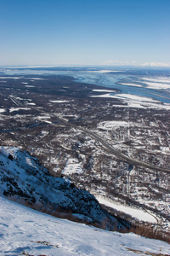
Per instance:
[[[105,223],[105,228],[123,228],[99,206],[94,195],[77,189],[63,177],[51,177],[37,159],[19,148],[0,147],[0,193],[36,209],[45,207],[50,213],[78,213],[78,217],[81,214],[81,218],[99,226]]]

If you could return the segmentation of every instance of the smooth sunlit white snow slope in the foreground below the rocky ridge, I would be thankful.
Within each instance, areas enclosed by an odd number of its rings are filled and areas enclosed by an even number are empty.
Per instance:
[[[163,241],[54,218],[4,197],[0,197],[0,206],[1,256],[170,254],[169,245]]]

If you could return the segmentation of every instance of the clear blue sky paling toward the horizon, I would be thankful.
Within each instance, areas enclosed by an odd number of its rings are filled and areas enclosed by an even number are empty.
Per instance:
[[[0,0],[0,65],[170,63],[170,0]]]

